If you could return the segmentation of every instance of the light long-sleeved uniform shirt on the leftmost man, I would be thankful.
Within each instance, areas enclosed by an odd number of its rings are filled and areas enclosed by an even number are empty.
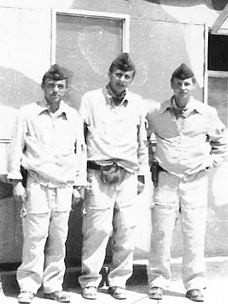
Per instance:
[[[63,101],[55,113],[45,100],[23,106],[14,125],[8,163],[8,179],[22,179],[22,165],[43,185],[85,185],[86,149],[79,113]]]

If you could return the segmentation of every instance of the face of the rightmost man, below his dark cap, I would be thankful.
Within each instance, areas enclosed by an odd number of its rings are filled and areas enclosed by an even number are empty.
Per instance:
[[[177,79],[172,81],[172,89],[174,90],[174,96],[176,104],[179,108],[185,108],[185,105],[189,102],[189,99],[194,91],[195,84],[191,78]]]

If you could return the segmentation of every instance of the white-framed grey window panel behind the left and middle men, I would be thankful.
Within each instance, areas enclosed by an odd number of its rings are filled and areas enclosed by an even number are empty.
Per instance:
[[[52,63],[70,74],[68,101],[79,108],[82,95],[107,83],[114,58],[129,49],[129,17],[69,10],[53,12]]]

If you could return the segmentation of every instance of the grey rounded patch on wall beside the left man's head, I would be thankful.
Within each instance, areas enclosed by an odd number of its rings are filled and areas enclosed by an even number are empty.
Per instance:
[[[42,79],[41,79],[42,81]],[[0,67],[1,104],[21,108],[43,98],[40,83],[10,68]]]

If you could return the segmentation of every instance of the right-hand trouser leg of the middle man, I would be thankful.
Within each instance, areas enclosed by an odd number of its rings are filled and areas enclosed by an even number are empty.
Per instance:
[[[133,272],[135,232],[139,206],[137,198],[137,176],[125,172],[125,179],[116,187],[116,203],[113,214],[112,263],[108,274],[109,286],[125,288]]]

